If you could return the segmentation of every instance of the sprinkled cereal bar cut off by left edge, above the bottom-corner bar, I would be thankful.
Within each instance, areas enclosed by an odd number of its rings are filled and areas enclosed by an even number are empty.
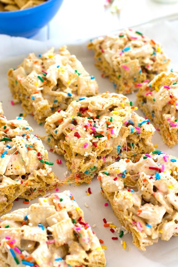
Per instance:
[[[42,141],[22,117],[0,117],[0,215],[16,198],[33,199],[58,185]]]

